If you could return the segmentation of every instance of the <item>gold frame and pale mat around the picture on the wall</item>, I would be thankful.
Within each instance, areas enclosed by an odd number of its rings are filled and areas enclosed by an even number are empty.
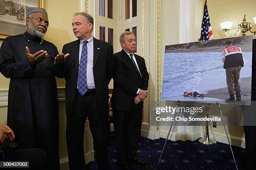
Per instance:
[[[29,0],[29,2],[31,4],[31,6],[33,6],[33,7],[41,7],[41,8],[44,7],[43,6],[44,0]],[[7,30],[6,28],[8,28],[8,31],[4,31],[4,30]],[[23,30],[26,30],[26,25],[3,23],[0,26],[0,39],[3,40],[6,37],[13,36],[13,35],[18,35],[18,34],[22,33]]]

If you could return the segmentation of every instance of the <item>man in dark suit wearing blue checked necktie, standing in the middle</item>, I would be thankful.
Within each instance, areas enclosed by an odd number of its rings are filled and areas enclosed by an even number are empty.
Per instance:
[[[108,84],[112,77],[113,47],[92,36],[93,18],[75,13],[72,21],[78,40],[63,46],[66,80],[67,149],[69,170],[84,170],[84,123],[89,119],[99,170],[108,169]],[[63,60],[64,55],[57,56]]]

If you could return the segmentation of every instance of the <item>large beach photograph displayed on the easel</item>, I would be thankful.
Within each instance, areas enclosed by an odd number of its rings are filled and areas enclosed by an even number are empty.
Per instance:
[[[161,100],[251,105],[252,35],[166,45]]]

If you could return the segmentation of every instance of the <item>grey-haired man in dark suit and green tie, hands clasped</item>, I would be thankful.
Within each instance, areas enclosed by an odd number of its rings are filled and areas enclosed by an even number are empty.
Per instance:
[[[128,161],[146,165],[136,153],[149,76],[143,57],[134,54],[136,38],[132,32],[125,31],[120,35],[120,45],[123,50],[114,54],[112,108],[118,162],[121,168],[128,169]]]

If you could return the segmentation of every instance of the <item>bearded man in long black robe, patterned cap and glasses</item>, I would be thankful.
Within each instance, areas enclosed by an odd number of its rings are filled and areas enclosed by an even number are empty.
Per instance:
[[[60,73],[56,68],[58,62],[54,61],[54,56],[58,55],[56,46],[41,38],[48,25],[43,8],[28,8],[26,32],[3,41],[0,72],[10,78],[7,124],[19,143],[17,149],[45,150],[47,166],[58,170],[59,116],[55,76],[59,77]]]

